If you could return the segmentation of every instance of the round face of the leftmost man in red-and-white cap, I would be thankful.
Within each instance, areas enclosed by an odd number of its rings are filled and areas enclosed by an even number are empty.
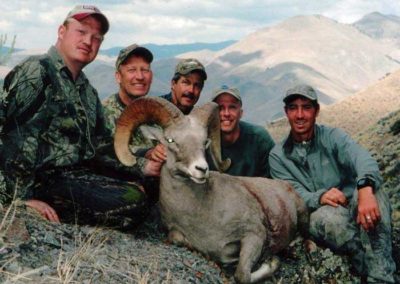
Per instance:
[[[101,22],[88,16],[80,22],[70,19],[58,29],[59,50],[67,64],[85,66],[92,62],[103,41]]]

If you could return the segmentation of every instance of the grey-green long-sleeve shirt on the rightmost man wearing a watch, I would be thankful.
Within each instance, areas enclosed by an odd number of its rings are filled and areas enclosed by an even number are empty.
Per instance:
[[[289,181],[311,210],[319,208],[323,193],[337,187],[349,199],[358,179],[368,177],[377,190],[382,182],[371,155],[338,128],[316,125],[314,137],[301,154],[291,136],[277,144],[269,156],[273,178]]]

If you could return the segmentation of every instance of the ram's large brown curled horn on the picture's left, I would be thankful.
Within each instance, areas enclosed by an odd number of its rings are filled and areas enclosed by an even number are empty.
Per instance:
[[[114,149],[118,159],[126,166],[136,163],[135,156],[129,150],[129,142],[132,133],[141,124],[156,123],[164,128],[181,117],[182,112],[165,99],[148,97],[134,100],[117,120]]]

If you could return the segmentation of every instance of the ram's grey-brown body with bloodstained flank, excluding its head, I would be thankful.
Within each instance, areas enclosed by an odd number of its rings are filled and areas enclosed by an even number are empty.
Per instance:
[[[289,184],[218,172],[211,172],[207,183],[196,184],[176,180],[163,169],[160,208],[171,242],[224,266],[237,264],[240,282],[250,282],[260,256],[287,247],[297,224],[306,226],[308,221],[304,203]]]

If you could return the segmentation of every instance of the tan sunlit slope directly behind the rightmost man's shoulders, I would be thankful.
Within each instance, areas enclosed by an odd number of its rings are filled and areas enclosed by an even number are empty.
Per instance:
[[[343,128],[356,136],[397,109],[400,109],[400,70],[355,95],[322,107],[318,123]],[[286,119],[268,124],[267,129],[277,141],[289,131]]]

